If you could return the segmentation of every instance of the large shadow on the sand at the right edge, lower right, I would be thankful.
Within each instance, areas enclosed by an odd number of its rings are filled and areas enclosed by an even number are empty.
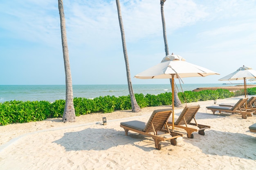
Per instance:
[[[207,130],[205,136],[193,134],[194,139],[184,138],[184,142],[200,148],[204,154],[256,160],[256,137],[215,130]]]

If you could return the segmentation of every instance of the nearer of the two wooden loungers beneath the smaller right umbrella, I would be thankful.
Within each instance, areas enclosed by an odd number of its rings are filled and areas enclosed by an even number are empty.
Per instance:
[[[242,115],[242,118],[246,119],[247,116],[252,116],[252,113],[255,112],[245,108],[244,104],[247,101],[247,99],[248,98],[241,98],[233,107],[208,106],[206,108],[211,110],[213,114],[215,114],[216,111],[219,111],[219,113],[221,113],[222,111],[229,113],[240,113]]]

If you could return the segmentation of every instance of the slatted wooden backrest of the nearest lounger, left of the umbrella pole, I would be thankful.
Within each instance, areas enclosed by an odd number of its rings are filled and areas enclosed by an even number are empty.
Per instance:
[[[155,132],[161,131],[172,112],[172,109],[159,109],[153,111],[143,131],[147,133],[154,132],[154,129]]]

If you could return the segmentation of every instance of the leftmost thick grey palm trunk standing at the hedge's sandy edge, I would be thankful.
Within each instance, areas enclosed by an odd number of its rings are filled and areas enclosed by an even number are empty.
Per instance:
[[[63,50],[63,58],[64,58],[64,66],[65,66],[65,79],[66,79],[66,102],[65,102],[62,122],[64,123],[75,122],[76,114],[75,114],[74,102],[73,102],[72,77],[71,77],[70,61],[69,61],[68,48],[67,48],[67,33],[66,33],[63,0],[58,0],[58,11],[60,13],[60,19],[61,19],[61,41],[62,41],[62,50]]]

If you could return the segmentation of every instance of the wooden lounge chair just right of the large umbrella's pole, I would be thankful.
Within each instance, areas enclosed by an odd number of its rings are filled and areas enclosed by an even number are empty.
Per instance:
[[[195,114],[198,112],[199,109],[199,105],[186,106],[180,113],[179,118],[175,119],[174,127],[186,130],[187,136],[189,138],[193,138],[194,135],[192,133],[197,131],[200,135],[204,135],[204,129],[211,128],[211,126],[198,124],[196,122]],[[195,123],[191,123],[192,120],[194,120]],[[172,126],[172,120],[169,119],[167,124],[168,126]]]

